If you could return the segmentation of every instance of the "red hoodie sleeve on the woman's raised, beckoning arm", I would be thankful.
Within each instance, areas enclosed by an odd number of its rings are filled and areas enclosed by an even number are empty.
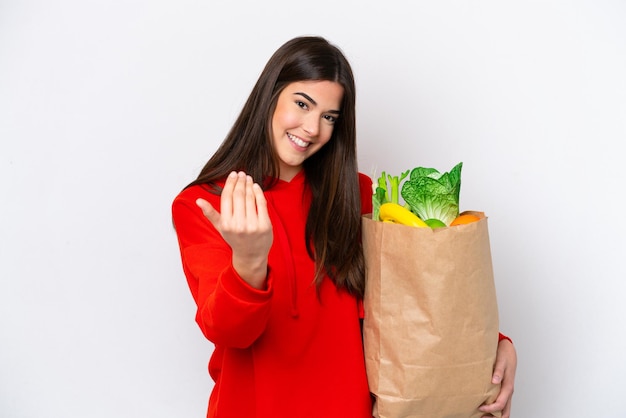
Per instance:
[[[197,305],[196,322],[214,344],[245,348],[265,329],[271,274],[268,271],[264,290],[249,286],[237,274],[230,247],[195,203],[199,197],[219,208],[219,196],[200,186],[184,190],[172,204],[183,271]]]

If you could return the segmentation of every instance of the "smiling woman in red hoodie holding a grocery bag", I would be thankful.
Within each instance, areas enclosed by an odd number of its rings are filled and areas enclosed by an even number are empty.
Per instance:
[[[207,417],[369,418],[350,65],[323,38],[270,58],[226,139],[172,211],[196,321],[215,345]],[[515,351],[499,349],[510,405]],[[503,372],[506,371],[506,374]]]

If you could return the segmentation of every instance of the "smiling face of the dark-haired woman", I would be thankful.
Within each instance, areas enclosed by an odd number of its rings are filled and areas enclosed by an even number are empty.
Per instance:
[[[330,140],[342,100],[343,87],[332,81],[299,81],[283,89],[272,116],[281,180],[290,181]]]

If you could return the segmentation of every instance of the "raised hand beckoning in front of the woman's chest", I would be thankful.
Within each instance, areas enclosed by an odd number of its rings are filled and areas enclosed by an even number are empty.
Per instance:
[[[273,233],[261,186],[244,172],[232,172],[222,190],[219,212],[204,199],[196,204],[233,250],[235,271],[250,286],[264,288]]]

